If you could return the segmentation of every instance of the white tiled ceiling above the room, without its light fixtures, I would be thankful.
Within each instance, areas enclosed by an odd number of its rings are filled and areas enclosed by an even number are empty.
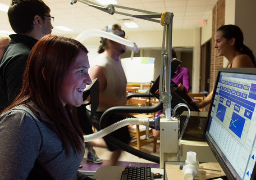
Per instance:
[[[0,0],[1,3],[9,4],[10,0]],[[92,2],[96,2],[91,0]],[[55,17],[53,26],[66,26],[74,29],[72,32],[60,31],[56,28],[53,33],[60,35],[77,36],[86,29],[102,29],[108,24],[120,23],[125,31],[154,31],[162,30],[159,23],[132,18],[121,14],[110,15],[99,9],[88,6],[81,2],[73,5],[69,0],[44,0],[50,7],[51,15]],[[193,29],[200,26],[198,19],[207,19],[212,13],[212,9],[217,0],[118,0],[120,6],[143,9],[156,13],[165,11],[174,13],[173,29]],[[128,14],[140,14],[136,11],[115,8],[116,11]],[[199,18],[200,17],[200,18]],[[131,18],[137,22],[139,28],[128,29],[123,26],[122,19]],[[160,18],[158,19],[160,20]],[[0,12],[0,30],[13,31],[9,25],[7,13]]]

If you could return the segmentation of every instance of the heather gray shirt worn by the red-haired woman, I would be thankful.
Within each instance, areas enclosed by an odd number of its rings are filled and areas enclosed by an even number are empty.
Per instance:
[[[83,155],[71,148],[67,158],[57,135],[27,106],[0,115],[0,180],[27,179],[36,161],[52,179],[76,180]]]

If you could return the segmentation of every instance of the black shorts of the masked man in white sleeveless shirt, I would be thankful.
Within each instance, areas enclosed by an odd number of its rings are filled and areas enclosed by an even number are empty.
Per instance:
[[[100,129],[100,119],[101,119],[102,114],[103,114],[103,112],[96,112],[94,117],[91,119],[92,124],[95,126],[95,128],[97,130]],[[90,117],[90,115],[91,115],[90,111],[87,110],[86,115],[87,115],[87,118]],[[106,122],[106,127],[114,124],[115,122],[121,121],[123,119],[126,119],[126,116],[121,113],[120,114],[112,114],[112,115],[110,115],[110,117],[108,118],[108,120]],[[113,136],[114,138],[122,141],[125,144],[128,144],[131,141],[131,136],[128,131],[128,126],[124,126],[118,130],[115,130],[114,132],[110,133],[110,135]],[[103,137],[103,139],[105,140],[105,137]],[[110,144],[108,141],[105,140],[105,142],[110,151],[115,151],[115,150],[119,149],[118,147]]]

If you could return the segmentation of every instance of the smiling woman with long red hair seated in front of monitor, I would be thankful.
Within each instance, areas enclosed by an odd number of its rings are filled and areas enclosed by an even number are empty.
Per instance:
[[[83,90],[91,84],[87,53],[77,40],[52,35],[33,47],[22,90],[0,114],[1,178],[83,176],[78,172],[83,133],[74,107],[82,104]]]

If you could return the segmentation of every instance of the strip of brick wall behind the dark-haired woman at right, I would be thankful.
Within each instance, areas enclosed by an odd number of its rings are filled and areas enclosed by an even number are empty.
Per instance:
[[[211,38],[211,58],[210,58],[210,91],[215,85],[218,68],[223,67],[223,57],[218,57],[215,52],[215,32],[225,23],[225,0],[219,0],[212,9],[212,38]]]

